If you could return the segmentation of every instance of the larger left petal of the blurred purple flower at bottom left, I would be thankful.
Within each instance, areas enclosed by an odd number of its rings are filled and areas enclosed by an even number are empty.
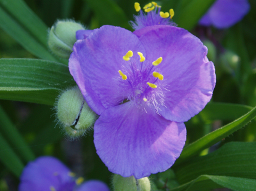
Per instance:
[[[73,187],[70,170],[54,157],[39,157],[28,163],[20,176],[19,191],[45,191],[54,187],[60,189],[62,185]]]

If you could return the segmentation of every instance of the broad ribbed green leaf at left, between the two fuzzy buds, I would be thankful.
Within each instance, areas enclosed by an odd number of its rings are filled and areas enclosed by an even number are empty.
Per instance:
[[[49,105],[75,85],[68,66],[37,59],[0,59],[0,78],[0,99]]]

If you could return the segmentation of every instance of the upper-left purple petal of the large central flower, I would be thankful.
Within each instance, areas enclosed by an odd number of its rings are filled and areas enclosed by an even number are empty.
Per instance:
[[[136,35],[115,26],[94,29],[85,40],[75,43],[69,60],[70,73],[97,114],[123,100],[116,79],[122,64],[127,64],[123,56],[129,50],[146,55]]]

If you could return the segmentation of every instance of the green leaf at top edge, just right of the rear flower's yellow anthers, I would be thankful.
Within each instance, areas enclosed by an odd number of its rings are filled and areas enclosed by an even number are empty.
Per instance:
[[[190,31],[196,26],[199,19],[207,12],[210,6],[212,6],[215,0],[183,0],[181,5],[185,5],[180,9],[179,17],[176,19],[176,23],[179,27]]]

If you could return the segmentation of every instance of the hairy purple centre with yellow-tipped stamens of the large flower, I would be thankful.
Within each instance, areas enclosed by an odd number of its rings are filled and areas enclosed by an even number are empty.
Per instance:
[[[149,64],[141,52],[139,57],[132,58],[133,52],[129,50],[123,60],[126,64],[119,70],[119,86],[123,90],[124,100],[134,101],[138,106],[142,103],[157,103],[157,97],[161,98],[163,93],[160,81],[163,75],[157,72],[157,65],[162,62],[162,57],[157,58]],[[160,87],[159,87],[160,85]]]

